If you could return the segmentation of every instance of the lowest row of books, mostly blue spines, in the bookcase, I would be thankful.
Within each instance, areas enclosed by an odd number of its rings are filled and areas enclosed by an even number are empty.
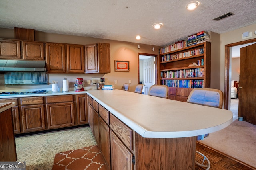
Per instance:
[[[203,88],[204,80],[162,80],[161,83],[168,87]]]

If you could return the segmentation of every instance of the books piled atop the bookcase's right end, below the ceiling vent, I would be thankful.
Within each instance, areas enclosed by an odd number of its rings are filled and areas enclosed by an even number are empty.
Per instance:
[[[200,31],[194,35],[188,36],[188,47],[191,45],[203,43],[205,41],[210,42],[210,37],[205,31]]]

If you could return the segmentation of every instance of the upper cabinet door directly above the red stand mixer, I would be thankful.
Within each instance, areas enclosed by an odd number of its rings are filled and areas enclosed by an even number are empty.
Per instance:
[[[84,45],[67,45],[67,72],[84,73]]]

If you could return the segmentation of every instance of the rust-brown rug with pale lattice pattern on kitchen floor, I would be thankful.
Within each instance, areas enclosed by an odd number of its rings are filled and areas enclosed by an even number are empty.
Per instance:
[[[52,170],[107,170],[97,145],[57,153]]]

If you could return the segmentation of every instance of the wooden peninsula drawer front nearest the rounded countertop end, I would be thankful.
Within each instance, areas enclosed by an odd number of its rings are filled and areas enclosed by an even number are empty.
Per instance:
[[[126,147],[132,150],[132,129],[112,114],[110,114],[110,129],[116,133]]]

